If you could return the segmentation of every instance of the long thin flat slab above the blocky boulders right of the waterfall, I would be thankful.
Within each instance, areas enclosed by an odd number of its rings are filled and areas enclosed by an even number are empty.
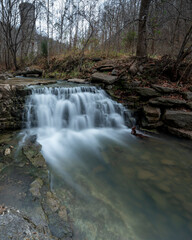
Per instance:
[[[183,107],[186,106],[185,100],[180,99],[174,99],[169,97],[158,97],[154,99],[149,100],[149,104],[152,106],[158,106],[158,107]]]

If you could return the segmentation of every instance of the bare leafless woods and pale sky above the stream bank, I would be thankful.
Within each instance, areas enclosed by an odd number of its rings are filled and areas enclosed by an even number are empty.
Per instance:
[[[0,63],[18,69],[57,55],[191,54],[190,0],[1,0]]]

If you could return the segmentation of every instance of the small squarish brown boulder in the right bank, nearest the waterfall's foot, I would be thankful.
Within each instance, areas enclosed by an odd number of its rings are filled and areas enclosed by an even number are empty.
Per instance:
[[[149,123],[156,123],[159,121],[161,116],[160,108],[154,108],[151,106],[143,107],[144,115]]]

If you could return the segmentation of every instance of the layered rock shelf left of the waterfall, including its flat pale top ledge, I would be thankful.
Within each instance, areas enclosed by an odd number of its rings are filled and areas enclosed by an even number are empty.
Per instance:
[[[31,93],[27,86],[55,82],[19,78],[0,80],[0,132],[22,128],[25,99]]]

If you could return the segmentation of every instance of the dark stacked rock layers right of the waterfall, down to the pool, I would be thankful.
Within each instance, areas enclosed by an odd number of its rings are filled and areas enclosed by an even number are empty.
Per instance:
[[[103,76],[105,75],[105,76]],[[97,78],[95,76],[99,76]],[[94,73],[92,82],[102,87],[117,101],[133,109],[137,124],[146,130],[160,130],[173,135],[192,139],[192,91],[182,91],[158,84],[142,86],[141,81]],[[192,89],[191,89],[192,90]]]

